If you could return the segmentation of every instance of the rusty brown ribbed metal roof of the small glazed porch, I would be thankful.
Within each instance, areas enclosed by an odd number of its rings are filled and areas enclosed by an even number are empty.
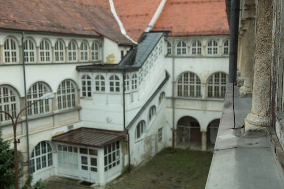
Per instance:
[[[125,135],[123,131],[81,127],[56,135],[52,137],[52,141],[102,148],[123,139]]]

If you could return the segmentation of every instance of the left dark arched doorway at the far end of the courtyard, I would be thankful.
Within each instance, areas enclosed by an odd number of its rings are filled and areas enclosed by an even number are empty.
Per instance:
[[[188,142],[200,142],[201,132],[198,121],[190,116],[178,120],[177,144]]]

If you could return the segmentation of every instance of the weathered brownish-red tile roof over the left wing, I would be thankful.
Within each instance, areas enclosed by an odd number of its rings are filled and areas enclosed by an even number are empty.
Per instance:
[[[105,35],[123,43],[108,0],[0,0],[0,28]]]

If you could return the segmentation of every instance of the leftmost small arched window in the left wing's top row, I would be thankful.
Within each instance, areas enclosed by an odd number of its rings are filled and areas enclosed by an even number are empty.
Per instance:
[[[6,42],[8,43],[8,49],[5,49]],[[15,49],[11,49],[10,47],[15,47]],[[9,56],[6,56],[6,54],[9,54]],[[9,61],[6,61],[6,60],[9,60]],[[7,37],[4,41],[3,63],[19,63],[19,44],[18,44],[18,41],[14,39],[13,37]]]

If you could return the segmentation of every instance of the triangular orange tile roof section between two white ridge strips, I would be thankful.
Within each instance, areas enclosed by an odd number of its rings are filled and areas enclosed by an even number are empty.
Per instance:
[[[126,34],[138,41],[161,0],[113,0],[113,2]]]

